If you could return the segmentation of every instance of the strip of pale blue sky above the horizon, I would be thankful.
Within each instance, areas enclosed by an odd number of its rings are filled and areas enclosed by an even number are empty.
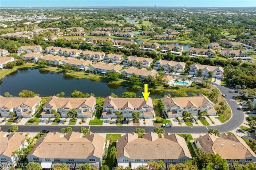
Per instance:
[[[0,0],[0,7],[90,6],[254,7],[256,0]]]

